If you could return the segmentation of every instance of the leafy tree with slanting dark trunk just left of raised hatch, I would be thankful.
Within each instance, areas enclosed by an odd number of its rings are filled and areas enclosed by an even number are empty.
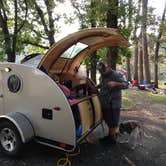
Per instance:
[[[54,35],[59,29],[56,21],[59,21],[61,16],[55,13],[59,1],[55,3],[54,0],[28,0],[28,2],[30,13],[26,22],[27,27],[24,28],[23,42],[26,45],[48,49],[55,43]],[[31,35],[28,35],[29,33]]]

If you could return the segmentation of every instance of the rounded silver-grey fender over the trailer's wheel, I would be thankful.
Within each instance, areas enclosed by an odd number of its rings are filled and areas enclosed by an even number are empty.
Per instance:
[[[2,115],[0,116],[0,123],[3,120],[9,121],[15,125],[23,143],[26,143],[34,138],[35,134],[33,126],[30,120],[23,113],[12,112],[7,115]]]

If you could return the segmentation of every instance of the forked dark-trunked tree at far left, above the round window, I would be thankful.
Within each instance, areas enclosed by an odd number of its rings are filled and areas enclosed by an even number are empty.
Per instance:
[[[14,17],[9,15],[10,11],[14,12]],[[18,34],[23,28],[28,13],[27,1],[2,1],[0,0],[0,27],[2,28],[7,60],[15,62]],[[10,26],[11,25],[11,26]]]

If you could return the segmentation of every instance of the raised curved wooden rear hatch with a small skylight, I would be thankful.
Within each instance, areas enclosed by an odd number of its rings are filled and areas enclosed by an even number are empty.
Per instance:
[[[55,43],[44,55],[38,68],[48,73],[74,74],[84,58],[102,47],[130,46],[113,28],[85,29],[68,35]]]

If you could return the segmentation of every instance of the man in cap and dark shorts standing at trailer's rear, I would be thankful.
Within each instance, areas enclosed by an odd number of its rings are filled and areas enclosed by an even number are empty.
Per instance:
[[[108,63],[103,61],[98,64],[101,74],[100,98],[103,118],[109,127],[108,136],[100,139],[101,143],[116,143],[116,131],[119,125],[121,108],[121,90],[128,88],[128,82],[121,75],[112,70]]]

